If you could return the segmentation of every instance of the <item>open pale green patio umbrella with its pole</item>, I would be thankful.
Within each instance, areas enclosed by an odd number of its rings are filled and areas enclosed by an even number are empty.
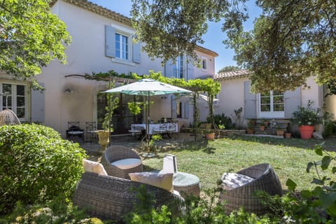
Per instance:
[[[106,90],[104,92],[113,93],[121,92],[131,95],[141,95],[148,97],[148,110],[147,110],[147,122],[146,122],[146,133],[148,133],[149,127],[149,100],[151,96],[163,95],[163,94],[172,94],[172,93],[181,93],[181,94],[192,94],[190,90],[183,89],[174,85],[169,85],[167,83],[161,83],[158,80],[153,80],[151,78],[144,78],[135,83],[130,83],[127,85],[122,85],[115,87],[111,90]],[[148,143],[148,134],[146,134],[146,139]]]

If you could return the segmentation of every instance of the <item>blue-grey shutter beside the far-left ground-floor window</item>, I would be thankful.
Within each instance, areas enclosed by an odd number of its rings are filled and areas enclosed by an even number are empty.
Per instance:
[[[44,87],[43,83],[38,83]],[[44,91],[31,89],[31,122],[44,122],[45,99]]]

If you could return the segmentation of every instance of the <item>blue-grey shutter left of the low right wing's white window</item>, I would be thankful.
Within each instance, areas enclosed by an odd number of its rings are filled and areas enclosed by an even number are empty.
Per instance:
[[[244,82],[244,118],[257,118],[256,95],[250,92],[251,81]]]

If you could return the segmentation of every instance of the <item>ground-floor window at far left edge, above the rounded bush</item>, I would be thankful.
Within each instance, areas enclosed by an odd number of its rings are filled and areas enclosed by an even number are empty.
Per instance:
[[[27,119],[27,85],[17,83],[0,83],[0,105],[12,110],[21,121]]]

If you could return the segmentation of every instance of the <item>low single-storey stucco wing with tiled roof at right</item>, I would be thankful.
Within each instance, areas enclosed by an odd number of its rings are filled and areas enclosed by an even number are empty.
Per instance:
[[[218,73],[214,80],[221,83],[219,102],[216,104],[216,113],[225,113],[225,116],[235,115],[234,110],[243,109],[241,115],[246,119],[289,120],[297,106],[307,106],[313,101],[314,108],[329,111],[335,114],[333,98],[325,98],[325,87],[316,84],[314,78],[308,78],[309,87],[297,87],[294,91],[253,94],[250,91],[250,71],[239,70]]]

